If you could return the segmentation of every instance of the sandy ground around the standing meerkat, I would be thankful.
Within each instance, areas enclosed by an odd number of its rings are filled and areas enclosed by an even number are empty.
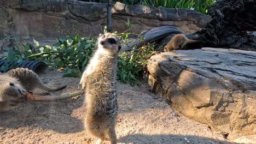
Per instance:
[[[67,85],[51,95],[78,90],[79,79],[62,74],[47,70],[40,75],[48,86]],[[207,125],[184,117],[164,98],[150,93],[146,84],[131,87],[118,82],[117,88],[118,143],[230,143]],[[84,115],[84,95],[54,102],[27,101],[0,113],[0,143],[95,143],[84,129]]]

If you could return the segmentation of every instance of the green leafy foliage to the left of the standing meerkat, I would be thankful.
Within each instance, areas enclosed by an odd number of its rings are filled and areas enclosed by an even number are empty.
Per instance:
[[[39,46],[34,40],[36,47],[32,48],[26,44],[26,51],[9,51],[5,53],[6,59],[12,61],[44,61],[53,68],[62,69],[66,72],[63,76],[80,77],[86,64],[94,52],[96,40],[94,38],[67,37],[67,39],[57,38],[57,43],[53,46]],[[11,55],[10,55],[11,53]],[[13,54],[12,54],[13,53]],[[9,60],[10,61],[10,60]],[[79,73],[75,72],[78,70]]]

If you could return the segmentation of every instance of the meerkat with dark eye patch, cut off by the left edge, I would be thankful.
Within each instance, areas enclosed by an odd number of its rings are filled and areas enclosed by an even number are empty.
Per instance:
[[[13,109],[26,99],[25,89],[15,77],[0,75],[0,112]]]

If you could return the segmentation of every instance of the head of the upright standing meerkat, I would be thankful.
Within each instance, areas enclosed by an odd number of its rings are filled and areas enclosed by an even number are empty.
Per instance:
[[[103,34],[98,38],[98,49],[114,56],[121,51],[121,40],[113,33]]]

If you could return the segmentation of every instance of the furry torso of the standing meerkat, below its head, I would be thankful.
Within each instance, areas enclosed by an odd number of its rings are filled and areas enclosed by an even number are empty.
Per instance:
[[[86,129],[93,135],[106,133],[109,125],[115,125],[117,117],[117,93],[115,91],[115,63],[114,57],[98,57],[97,64],[91,63],[89,73],[94,75],[96,81],[86,85],[85,103]]]

